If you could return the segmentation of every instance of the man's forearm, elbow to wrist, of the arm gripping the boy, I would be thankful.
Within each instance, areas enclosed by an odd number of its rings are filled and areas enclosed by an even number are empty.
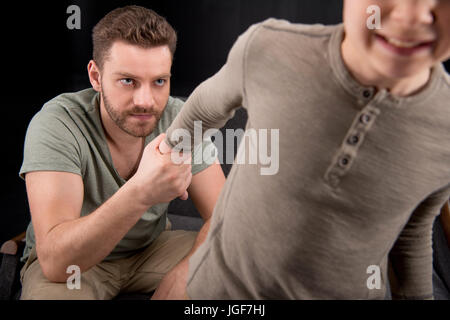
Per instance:
[[[39,256],[49,280],[65,282],[70,265],[79,266],[82,272],[90,269],[136,224],[148,207],[136,201],[139,190],[130,181],[91,214],[49,231]]]

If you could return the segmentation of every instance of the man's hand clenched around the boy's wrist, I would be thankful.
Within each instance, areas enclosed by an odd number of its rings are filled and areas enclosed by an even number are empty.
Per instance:
[[[177,164],[172,161],[171,153],[159,151],[164,138],[165,134],[160,134],[145,147],[138,170],[129,180],[141,190],[137,199],[148,206],[170,202],[176,197],[187,199],[186,190],[192,180],[190,161],[189,164],[187,161]],[[190,157],[190,154],[186,155],[187,159]]]

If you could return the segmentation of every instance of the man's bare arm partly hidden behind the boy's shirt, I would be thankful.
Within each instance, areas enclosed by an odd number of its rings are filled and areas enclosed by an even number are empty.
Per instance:
[[[205,223],[198,232],[194,246],[161,281],[152,299],[183,299],[186,292],[189,258],[205,241],[208,235],[214,206],[225,183],[225,176],[218,161],[192,178],[189,196]]]

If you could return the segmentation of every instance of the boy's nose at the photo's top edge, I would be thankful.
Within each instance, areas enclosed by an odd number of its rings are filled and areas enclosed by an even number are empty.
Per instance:
[[[391,17],[407,28],[429,25],[434,22],[435,6],[436,0],[401,0],[397,1]]]

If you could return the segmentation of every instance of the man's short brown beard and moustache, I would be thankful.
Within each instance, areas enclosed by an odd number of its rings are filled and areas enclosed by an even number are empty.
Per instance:
[[[105,109],[109,114],[109,117],[111,120],[114,121],[114,123],[123,131],[128,133],[129,135],[132,135],[136,138],[146,137],[150,133],[153,132],[155,129],[156,124],[158,123],[159,119],[161,118],[161,113],[155,111],[153,108],[142,108],[138,106],[134,106],[129,111],[124,112],[118,112],[117,108],[114,108],[107,98],[105,92],[103,91],[103,88],[101,89],[102,99],[103,103],[105,105]],[[146,123],[145,126],[139,126],[139,125],[132,125],[129,122],[127,123],[127,118],[131,116],[132,114],[148,114],[155,117],[156,121],[153,123],[153,125],[150,125],[149,123]],[[151,120],[153,121],[153,119]]]

